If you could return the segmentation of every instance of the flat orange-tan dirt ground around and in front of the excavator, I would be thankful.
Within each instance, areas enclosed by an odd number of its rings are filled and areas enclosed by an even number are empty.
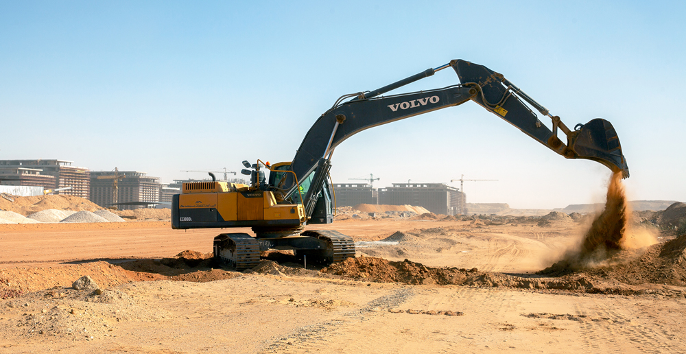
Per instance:
[[[674,232],[594,269],[536,274],[583,220],[316,228],[351,235],[357,258],[303,269],[272,252],[234,272],[209,254],[227,230],[2,224],[0,353],[686,351],[686,237]],[[86,275],[99,290],[71,287]]]

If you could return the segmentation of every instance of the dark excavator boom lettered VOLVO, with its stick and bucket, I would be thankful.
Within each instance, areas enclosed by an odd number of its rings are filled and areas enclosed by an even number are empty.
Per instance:
[[[457,73],[460,84],[430,91],[378,97],[449,67]],[[348,101],[344,102],[346,99]],[[565,158],[597,161],[613,172],[622,172],[624,178],[629,176],[622,147],[610,122],[593,119],[570,130],[560,117],[550,115],[545,107],[502,74],[465,60],[451,60],[449,64],[427,69],[375,91],[340,97],[307,132],[289,167],[294,174],[284,174],[278,189],[284,192],[285,198],[299,198],[294,175],[298,180],[310,177],[311,184],[305,191],[303,204],[306,215],[311,216],[331,168],[333,150],[345,139],[368,128],[458,106],[470,100]],[[525,102],[552,120],[552,130],[539,120],[534,110]],[[567,143],[558,138],[558,130],[565,134]],[[314,176],[310,176],[311,174]]]

